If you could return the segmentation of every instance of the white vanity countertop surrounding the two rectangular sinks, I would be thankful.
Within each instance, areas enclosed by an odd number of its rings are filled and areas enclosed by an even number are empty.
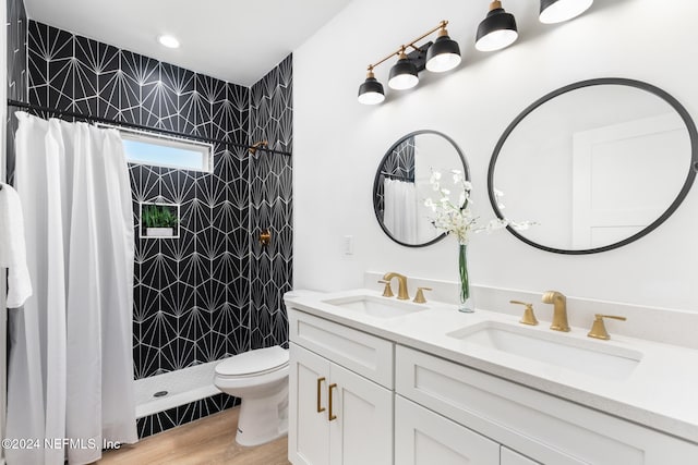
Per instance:
[[[358,289],[337,293],[289,292],[288,308],[296,308],[490,375],[566,399],[600,412],[635,421],[698,443],[698,351],[613,334],[610,341],[587,338],[588,328],[573,327],[565,338],[638,351],[642,358],[622,380],[567,369],[488,348],[446,335],[483,321],[518,323],[517,317],[478,310],[461,314],[453,304],[429,302],[429,309],[396,318],[376,318],[322,301],[381,293]],[[394,299],[393,297],[392,299]],[[551,332],[541,320],[530,331]]]

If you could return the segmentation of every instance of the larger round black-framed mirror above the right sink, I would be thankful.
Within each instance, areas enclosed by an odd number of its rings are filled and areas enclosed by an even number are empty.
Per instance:
[[[593,254],[659,227],[686,197],[698,170],[696,126],[652,85],[582,81],[539,99],[506,129],[488,172],[497,217],[534,221],[507,228],[534,247]],[[506,210],[497,207],[503,192]]]

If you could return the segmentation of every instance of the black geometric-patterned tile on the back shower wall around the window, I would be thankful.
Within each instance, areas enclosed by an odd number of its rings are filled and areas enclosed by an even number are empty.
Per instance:
[[[246,143],[250,89],[29,22],[29,101],[116,121]],[[179,204],[179,238],[136,235],[136,379],[250,347],[249,223],[243,150],[214,147],[214,172],[130,164],[139,203]],[[241,298],[242,296],[242,298]],[[244,298],[246,296],[246,298]]]

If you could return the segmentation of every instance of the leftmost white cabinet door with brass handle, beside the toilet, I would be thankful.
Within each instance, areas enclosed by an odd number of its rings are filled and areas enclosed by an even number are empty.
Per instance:
[[[289,350],[289,461],[294,465],[328,464],[329,362],[293,343]]]

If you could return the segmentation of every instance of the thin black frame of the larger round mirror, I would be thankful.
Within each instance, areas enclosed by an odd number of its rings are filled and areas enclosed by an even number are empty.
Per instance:
[[[512,134],[512,132],[516,129],[516,126],[521,122],[521,120],[524,120],[531,112],[533,112],[533,110],[535,110],[538,107],[542,106],[546,101],[552,100],[553,98],[559,95],[566,94],[575,89],[580,89],[583,87],[591,87],[591,86],[599,86],[599,85],[630,86],[641,90],[646,90],[666,101],[681,115],[682,120],[686,124],[686,129],[688,130],[688,136],[690,138],[690,166],[688,167],[688,175],[686,176],[686,181],[684,182],[684,185],[679,191],[678,195],[676,196],[676,198],[674,199],[674,201],[657,220],[654,220],[652,223],[647,225],[640,232],[635,233],[631,236],[624,238],[623,241],[604,245],[602,247],[586,248],[586,249],[564,249],[564,248],[549,247],[546,245],[539,244],[537,242],[531,241],[530,238],[525,237],[510,225],[506,228],[519,241],[522,241],[526,244],[531,245],[535,248],[540,248],[541,250],[552,252],[555,254],[565,254],[565,255],[587,255],[587,254],[598,254],[600,252],[612,250],[614,248],[623,247],[624,245],[635,242],[638,238],[654,231],[660,224],[666,221],[666,219],[671,217],[674,211],[676,211],[678,206],[682,204],[682,201],[684,201],[684,199],[688,195],[688,191],[690,191],[690,187],[696,178],[696,172],[698,172],[698,132],[696,131],[696,124],[694,123],[693,119],[690,118],[690,114],[684,108],[684,106],[682,106],[678,102],[678,100],[676,100],[672,95],[667,94],[666,91],[651,84],[648,84],[641,81],[636,81],[636,79],[628,79],[624,77],[601,77],[601,78],[579,81],[577,83],[573,83],[564,87],[561,87],[556,90],[553,90],[550,94],[546,94],[545,96],[535,100],[533,103],[527,107],[518,117],[516,117],[514,121],[512,121],[512,123],[507,126],[507,129],[504,131],[504,133],[500,137],[500,140],[497,140],[497,144],[494,147],[494,151],[492,152],[492,158],[490,159],[490,167],[488,169],[488,194],[490,196],[490,204],[492,205],[492,208],[495,215],[497,216],[497,218],[504,219],[505,217],[500,210],[500,208],[497,207],[497,201],[494,195],[494,169],[497,162],[497,158],[500,156],[500,151],[502,150],[502,147],[504,146],[504,143],[506,142],[507,137]]]

